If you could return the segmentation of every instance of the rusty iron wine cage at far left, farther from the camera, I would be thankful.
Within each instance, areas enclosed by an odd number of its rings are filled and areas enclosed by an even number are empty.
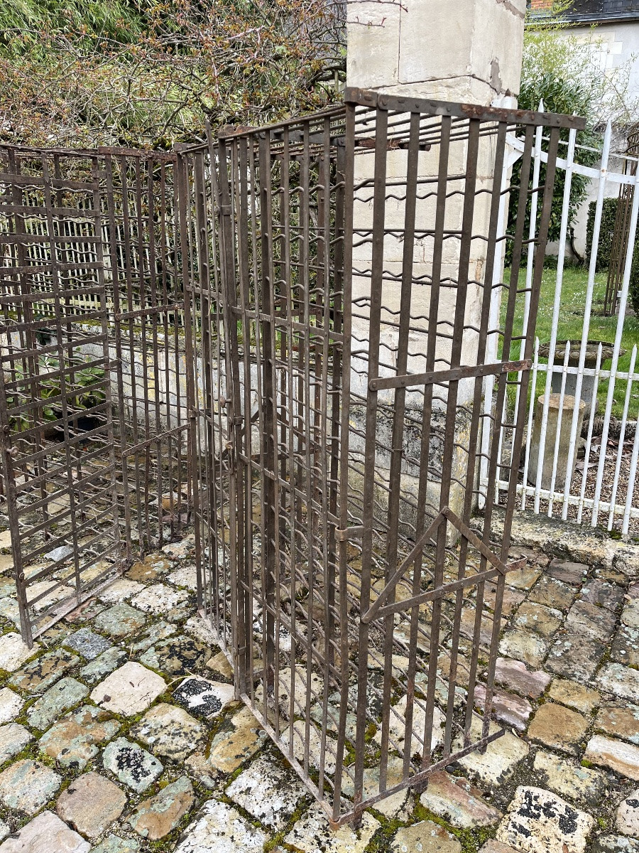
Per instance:
[[[174,154],[0,146],[0,427],[19,624],[187,524]],[[5,600],[5,603],[7,600]]]

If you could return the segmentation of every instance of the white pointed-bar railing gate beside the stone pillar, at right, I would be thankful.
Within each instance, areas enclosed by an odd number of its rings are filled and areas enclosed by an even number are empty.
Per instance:
[[[538,136],[534,148],[534,164],[533,164],[533,193],[531,194],[531,227],[534,228],[535,212],[537,208],[537,195],[534,190],[538,186],[538,175],[541,164],[547,159],[544,153],[544,145],[542,138],[542,129],[538,128]],[[596,364],[594,367],[586,366],[586,345],[589,339],[590,320],[593,307],[593,293],[595,290],[595,275],[596,275],[596,258],[600,245],[600,232],[602,224],[603,201],[606,197],[606,190],[611,184],[620,186],[624,183],[636,185],[639,176],[622,171],[608,171],[608,163],[610,160],[612,128],[607,125],[606,132],[603,138],[603,146],[601,153],[601,165],[598,168],[591,166],[580,165],[576,162],[576,155],[579,155],[580,148],[577,143],[577,131],[570,131],[569,138],[565,144],[565,157],[557,160],[557,168],[565,173],[565,185],[563,194],[563,207],[561,212],[561,230],[557,257],[556,271],[556,286],[554,300],[552,305],[552,320],[550,341],[547,342],[546,349],[548,351],[547,359],[541,360],[539,357],[539,339],[537,339],[533,369],[531,375],[531,393],[528,400],[521,400],[519,396],[515,399],[515,413],[520,405],[527,405],[527,427],[526,427],[526,451],[522,465],[521,482],[518,485],[518,493],[520,496],[520,507],[522,509],[533,509],[535,513],[545,513],[550,517],[561,517],[561,519],[574,520],[581,523],[588,523],[593,527],[605,526],[607,530],[613,529],[622,534],[637,533],[639,531],[639,489],[636,488],[637,461],[639,457],[639,429],[636,428],[636,404],[632,406],[632,414],[630,415],[630,407],[633,401],[633,391],[635,397],[639,392],[639,373],[636,369],[639,368],[636,362],[636,345],[633,345],[630,351],[630,367],[627,370],[619,369],[619,357],[621,353],[621,344],[624,334],[625,323],[628,322],[626,311],[628,308],[628,293],[630,285],[630,268],[632,264],[632,254],[635,247],[636,223],[637,214],[639,213],[639,192],[635,190],[633,194],[631,214],[630,214],[630,235],[628,240],[628,249],[625,256],[625,267],[623,284],[618,293],[618,313],[616,321],[616,330],[614,340],[608,343],[612,345],[612,361],[609,369],[602,369],[602,346],[598,347],[596,353]],[[508,186],[509,175],[512,165],[521,156],[523,151],[523,142],[515,136],[509,136],[509,157],[504,165],[504,176],[502,179],[502,188],[504,194],[502,196],[502,210],[500,212],[498,230],[499,235],[505,235],[506,220],[508,212]],[[624,155],[615,154],[615,157],[620,157],[622,160],[636,160],[636,158],[628,158]],[[639,170],[637,170],[639,171]],[[557,341],[561,339],[561,305],[564,283],[564,270],[566,265],[566,244],[568,236],[569,223],[569,201],[570,192],[575,174],[583,175],[592,182],[597,184],[595,221],[592,235],[592,248],[590,252],[590,265],[587,276],[587,286],[584,297],[584,320],[581,332],[581,345],[579,345],[579,363],[576,366],[569,364],[570,344],[564,347],[563,363],[555,364]],[[504,241],[505,243],[505,241]],[[502,275],[502,270],[496,270],[495,281],[493,285],[498,285],[499,276]],[[526,269],[526,286],[530,287],[533,276],[533,253],[528,253],[527,269]],[[502,288],[493,287],[493,304],[492,304],[492,323],[491,328],[498,328],[499,316],[499,294]],[[526,305],[527,311],[527,305]],[[526,322],[526,317],[524,317]],[[546,343],[545,341],[543,343]],[[578,342],[579,343],[579,342]],[[574,342],[573,342],[574,345]],[[498,335],[492,334],[489,339],[488,361],[496,360],[498,355]],[[556,439],[554,448],[546,448],[549,411],[550,411],[550,395],[546,393],[546,388],[549,390],[553,385],[553,376],[559,377],[555,379],[555,388],[557,384],[559,390],[559,411],[557,415]],[[590,406],[590,415],[586,421],[586,429],[582,427],[581,434],[579,430],[579,405],[573,407],[565,407],[566,403],[566,387],[569,376],[575,376],[574,386],[573,380],[570,381],[570,393],[579,401],[585,398],[586,409]],[[586,377],[591,377],[584,383]],[[623,411],[620,419],[615,422],[616,436],[618,441],[618,451],[616,459],[613,453],[608,451],[608,439],[610,437],[611,416],[613,415],[614,391],[615,386],[619,381],[626,382]],[[602,419],[596,417],[598,392],[602,385],[607,383],[606,402],[605,406],[600,411]],[[533,440],[533,425],[537,409],[537,399],[543,394],[544,403],[541,411],[541,429],[538,447],[537,468],[533,471],[531,463],[531,450]],[[486,379],[485,386],[485,415],[491,415],[494,407],[494,380],[492,377]],[[504,403],[504,406],[508,402]],[[494,413],[493,413],[494,414]],[[505,422],[505,412],[502,413],[502,422]],[[564,418],[571,418],[570,423],[570,438],[567,444],[567,453],[562,453],[560,450],[561,439],[561,423]],[[512,422],[512,419],[509,419]],[[601,443],[597,444],[598,437],[594,435],[596,424],[602,423]],[[490,419],[484,419],[485,429],[482,435],[482,452],[481,470],[480,470],[480,490],[486,494],[488,462],[487,451],[489,447],[489,424]],[[584,435],[582,439],[581,436]],[[625,440],[626,436],[629,440]],[[593,440],[595,439],[595,440]],[[611,447],[611,450],[612,447]],[[500,459],[508,456],[509,450],[506,446],[500,449]],[[550,483],[546,483],[544,487],[542,473],[544,467],[544,458],[552,453],[552,476]],[[572,475],[575,456],[579,455],[583,458],[581,471],[579,470]],[[564,483],[561,488],[557,484]],[[498,480],[496,489],[498,492],[507,488],[508,484]]]

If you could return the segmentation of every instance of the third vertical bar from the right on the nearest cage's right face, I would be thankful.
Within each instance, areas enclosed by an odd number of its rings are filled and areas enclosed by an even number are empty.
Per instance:
[[[492,286],[492,276],[497,252],[497,241],[496,238],[497,228],[498,228],[498,216],[499,216],[499,208],[501,205],[501,175],[504,168],[504,154],[505,154],[505,140],[506,140],[506,131],[507,125],[502,122],[498,126],[497,138],[496,138],[496,152],[495,152],[495,160],[493,164],[493,177],[492,177],[492,192],[491,192],[491,212],[488,222],[488,241],[487,241],[487,251],[486,251],[486,264],[484,268],[484,287],[482,293],[482,303],[481,303],[481,319],[480,319],[480,328],[479,328],[479,339],[477,343],[477,365],[478,367],[483,367],[484,360],[486,358],[486,342],[487,342],[487,334],[488,334],[488,325],[490,322],[490,310],[491,310],[491,286]],[[529,367],[529,363],[527,364]],[[518,364],[515,369],[521,369],[524,367],[523,364]],[[466,483],[464,485],[464,495],[463,495],[463,513],[462,519],[458,519],[461,521],[460,524],[457,524],[458,530],[463,534],[460,544],[459,544],[459,566],[458,566],[458,581],[461,581],[465,577],[465,566],[467,560],[467,550],[469,543],[474,545],[485,557],[486,560],[492,562],[492,565],[498,568],[501,572],[509,569],[509,566],[504,566],[501,561],[497,561],[494,559],[494,555],[491,550],[486,547],[484,543],[481,543],[478,537],[475,536],[472,531],[469,531],[468,523],[470,519],[470,514],[473,508],[473,497],[474,497],[474,485],[475,485],[475,466],[478,458],[478,439],[479,439],[479,430],[481,424],[481,396],[482,396],[482,388],[483,383],[481,382],[481,374],[477,374],[475,376],[475,388],[474,388],[474,396],[472,403],[472,414],[471,414],[471,422],[470,422],[470,433],[469,433],[469,455],[468,455],[468,467],[466,474]],[[452,519],[452,515],[449,514],[449,518]],[[469,533],[472,535],[469,536]],[[478,547],[480,546],[481,547]],[[500,564],[500,565],[498,565]],[[475,576],[476,577],[476,576]],[[477,588],[480,592],[481,599],[483,600],[484,595],[484,585],[481,583],[481,588],[478,586]],[[463,588],[460,587],[458,589],[458,595],[456,596],[455,601],[455,612],[453,616],[453,624],[452,624],[452,637],[451,637],[451,659],[450,659],[450,668],[448,673],[448,707],[452,707],[455,699],[455,690],[457,688],[457,670],[458,670],[458,647],[459,647],[459,634],[461,628],[461,618],[462,618],[462,606],[463,606]],[[475,613],[475,619],[479,619],[479,626],[481,629],[481,609],[479,611],[479,616]],[[477,625],[475,624],[475,628]],[[476,632],[475,632],[476,635]],[[494,649],[492,652],[494,653]],[[471,704],[472,699],[469,699],[469,704]],[[451,740],[452,740],[452,720],[446,719],[446,730],[444,733],[444,753],[448,754],[451,750]],[[468,735],[465,734],[464,737]]]

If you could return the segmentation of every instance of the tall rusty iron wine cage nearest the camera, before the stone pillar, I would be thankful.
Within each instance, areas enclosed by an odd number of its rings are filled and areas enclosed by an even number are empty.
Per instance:
[[[502,734],[515,401],[557,148],[583,126],[347,89],[178,151],[199,606],[333,826]]]

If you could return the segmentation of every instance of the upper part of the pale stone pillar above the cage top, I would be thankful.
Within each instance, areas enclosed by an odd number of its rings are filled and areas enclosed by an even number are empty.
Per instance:
[[[515,107],[526,0],[348,3],[349,86]]]

